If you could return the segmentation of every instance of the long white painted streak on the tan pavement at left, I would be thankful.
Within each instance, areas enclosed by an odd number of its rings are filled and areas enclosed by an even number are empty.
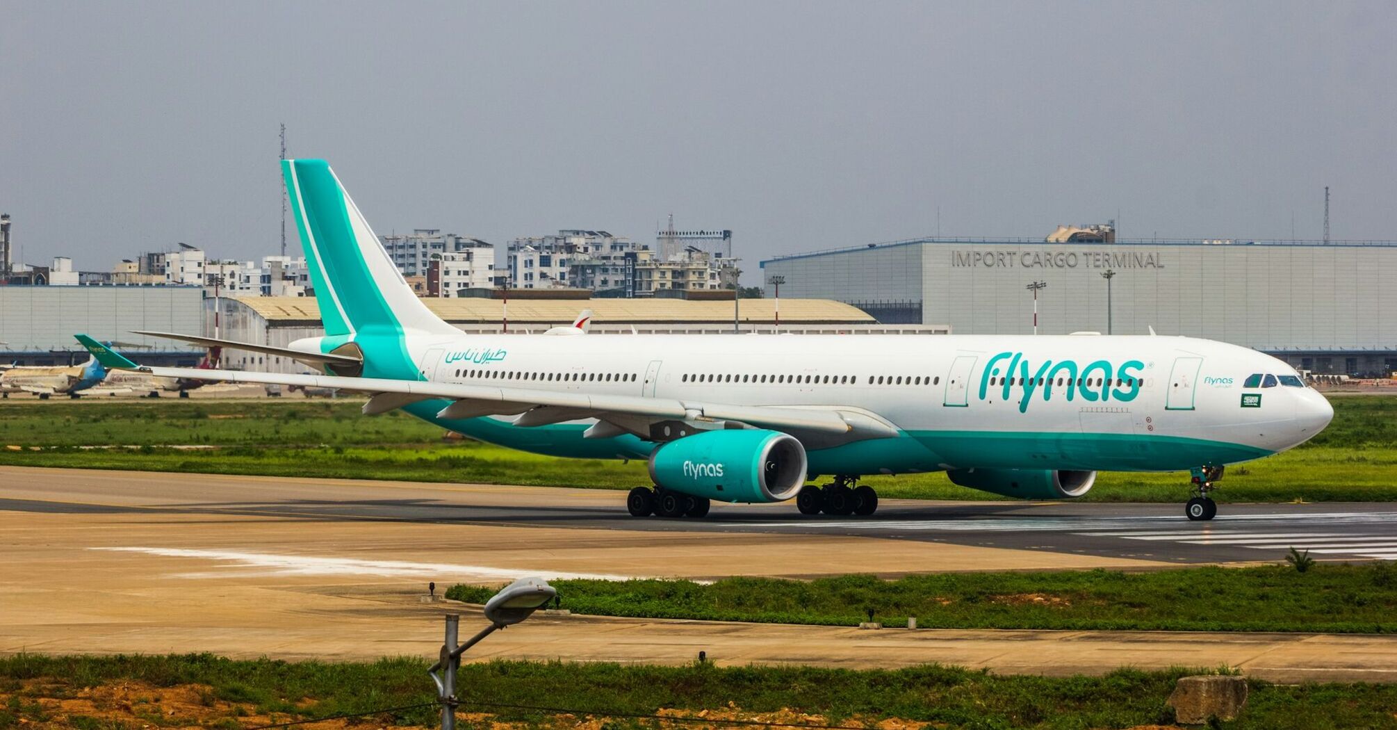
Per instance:
[[[231,550],[184,550],[158,547],[116,547],[88,548],[106,552],[141,552],[165,558],[198,558],[228,562],[224,568],[236,572],[180,573],[179,578],[228,578],[239,576],[302,576],[302,575],[349,575],[377,578],[423,578],[436,580],[513,580],[524,576],[566,579],[585,578],[595,580],[627,580],[633,576],[573,573],[562,571],[535,571],[528,568],[492,568],[486,565],[458,565],[450,562],[408,562],[370,561],[359,558],[321,558],[314,555],[279,555],[272,552],[243,552]]]

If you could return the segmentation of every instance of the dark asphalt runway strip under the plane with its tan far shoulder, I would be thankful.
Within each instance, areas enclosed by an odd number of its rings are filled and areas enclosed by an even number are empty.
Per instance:
[[[54,478],[57,473],[64,475]],[[623,501],[624,492],[543,487],[0,467],[0,509],[31,513],[134,510],[805,540],[844,536],[1171,564],[1278,561],[1291,547],[1317,559],[1397,559],[1397,503],[1221,505],[1215,519],[1189,522],[1182,503],[884,499],[870,517],[803,516],[791,503],[715,503],[704,519],[636,519]],[[876,558],[870,555],[862,569],[908,569]]]

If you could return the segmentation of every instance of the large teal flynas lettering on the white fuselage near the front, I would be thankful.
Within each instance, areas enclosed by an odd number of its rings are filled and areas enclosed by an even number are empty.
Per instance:
[[[1140,394],[1143,369],[1144,362],[1139,359],[1127,359],[1120,365],[1106,359],[1087,365],[1078,365],[1074,359],[1046,359],[1034,366],[1023,352],[1000,352],[989,358],[979,376],[979,400],[996,396],[1009,400],[1016,393],[1014,389],[1018,389],[1018,413],[1028,413],[1034,396],[1052,400],[1055,389],[1063,392],[1067,400],[1080,397],[1087,401],[1130,401]],[[1060,386],[1059,379],[1063,379]]]

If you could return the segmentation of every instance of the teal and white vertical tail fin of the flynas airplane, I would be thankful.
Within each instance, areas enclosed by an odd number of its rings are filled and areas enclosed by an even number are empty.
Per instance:
[[[330,164],[284,159],[281,165],[327,336],[460,333],[412,292]]]

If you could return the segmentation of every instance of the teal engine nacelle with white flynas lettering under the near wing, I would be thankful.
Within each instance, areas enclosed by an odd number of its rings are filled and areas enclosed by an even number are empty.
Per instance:
[[[778,431],[704,431],[650,455],[655,485],[719,502],[791,499],[805,485],[805,446]]]

